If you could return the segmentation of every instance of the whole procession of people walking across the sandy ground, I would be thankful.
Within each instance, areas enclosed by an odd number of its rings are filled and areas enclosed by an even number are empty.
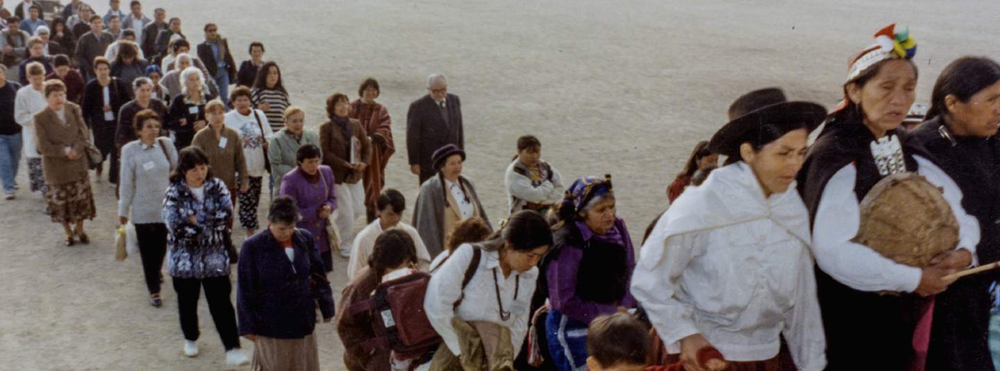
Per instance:
[[[891,25],[850,60],[832,112],[780,88],[741,95],[664,183],[670,207],[637,249],[612,175],[564,178],[533,135],[496,169],[508,207],[490,219],[443,74],[406,113],[408,211],[386,184],[397,142],[377,79],[330,94],[310,130],[262,43],[237,66],[215,23],[191,53],[165,9],[109,5],[46,15],[24,0],[11,15],[0,1],[0,181],[19,197],[24,157],[64,244],[89,244],[107,166],[152,307],[166,262],[188,357],[204,289],[227,364],[263,370],[318,370],[327,322],[350,370],[993,369],[996,275],[953,275],[1000,260],[992,59],[949,64],[912,129],[916,43]],[[856,238],[862,201],[904,173],[941,189],[957,228],[924,266]],[[330,274],[349,281],[340,295]]]

